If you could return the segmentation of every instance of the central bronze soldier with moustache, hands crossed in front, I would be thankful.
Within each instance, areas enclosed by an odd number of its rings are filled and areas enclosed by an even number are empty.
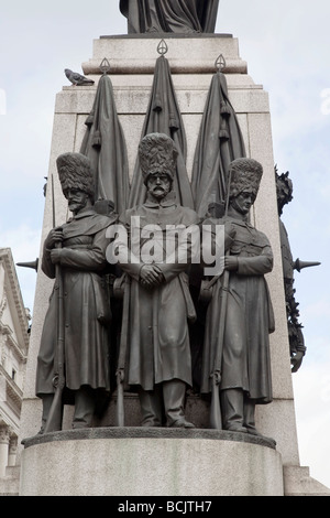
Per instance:
[[[199,240],[198,217],[177,203],[173,191],[174,141],[166,134],[147,134],[139,157],[147,197],[120,217],[130,242],[123,237],[114,241],[120,267],[130,279],[121,333],[129,358],[124,377],[139,391],[143,427],[191,428],[184,407],[191,386],[188,320],[196,313],[186,271],[190,240]]]

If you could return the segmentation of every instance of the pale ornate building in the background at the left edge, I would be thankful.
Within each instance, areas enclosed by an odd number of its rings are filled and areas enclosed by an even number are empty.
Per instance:
[[[29,310],[10,248],[0,248],[0,494],[15,492],[15,457],[25,365]]]

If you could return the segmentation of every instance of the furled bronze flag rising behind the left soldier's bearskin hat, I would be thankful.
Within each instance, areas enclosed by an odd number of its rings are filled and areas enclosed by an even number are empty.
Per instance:
[[[130,183],[124,134],[118,118],[110,77],[101,76],[94,107],[86,120],[80,153],[96,175],[96,201],[110,199],[117,213],[128,206]]]

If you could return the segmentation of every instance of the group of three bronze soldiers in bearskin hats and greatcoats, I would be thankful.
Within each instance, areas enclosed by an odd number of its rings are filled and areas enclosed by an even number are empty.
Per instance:
[[[262,165],[252,159],[234,160],[229,168],[224,214],[200,218],[176,199],[174,141],[163,133],[147,134],[140,143],[139,157],[146,199],[122,215],[96,212],[87,157],[65,153],[57,159],[73,217],[52,229],[44,242],[42,269],[55,278],[55,284],[37,357],[41,433],[61,430],[64,404],[75,406],[74,429],[92,427],[100,399],[110,392],[116,397],[116,387],[110,386],[113,367],[119,374],[117,390],[124,387],[139,393],[142,427],[194,428],[185,416],[187,388],[193,386],[189,326],[196,320],[189,285],[189,242],[194,239],[189,241],[187,233],[208,225],[217,252],[217,227],[222,225],[224,269],[213,278],[206,313],[200,393],[215,400],[210,428],[257,434],[255,404],[272,401],[268,334],[274,331],[264,277],[273,268],[272,248],[249,218]],[[135,255],[136,247],[130,240],[136,222],[140,250],[148,240],[156,248],[157,237],[147,230],[155,225],[161,229],[158,253],[145,260]],[[118,224],[129,236],[128,241],[119,233],[113,244],[117,274],[124,278],[119,355],[110,341],[113,321],[107,283],[112,268],[107,261],[107,236]],[[168,227],[177,229],[169,258],[162,256],[163,233]],[[202,265],[200,269],[202,272]]]

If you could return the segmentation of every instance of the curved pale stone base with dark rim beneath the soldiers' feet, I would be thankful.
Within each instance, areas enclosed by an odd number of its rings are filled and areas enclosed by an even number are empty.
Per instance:
[[[261,436],[99,428],[37,435],[24,446],[20,496],[284,494],[280,454]]]

